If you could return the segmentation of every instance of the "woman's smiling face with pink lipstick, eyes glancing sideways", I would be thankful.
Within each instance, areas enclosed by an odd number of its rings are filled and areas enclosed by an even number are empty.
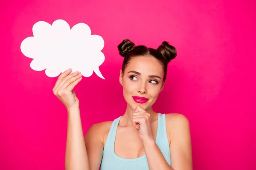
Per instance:
[[[133,110],[137,105],[147,110],[163,90],[163,76],[163,67],[154,57],[131,59],[124,73],[120,72],[125,101]]]

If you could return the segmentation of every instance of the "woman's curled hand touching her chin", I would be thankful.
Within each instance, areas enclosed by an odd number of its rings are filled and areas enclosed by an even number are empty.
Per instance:
[[[132,110],[132,112],[132,125],[138,130],[142,142],[148,141],[148,139],[153,139],[150,114],[141,106],[137,106],[135,111]]]

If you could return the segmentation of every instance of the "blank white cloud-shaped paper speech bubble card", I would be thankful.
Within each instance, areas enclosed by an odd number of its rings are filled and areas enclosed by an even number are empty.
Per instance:
[[[45,70],[48,77],[57,77],[68,68],[90,77],[93,71],[105,79],[99,66],[105,60],[102,53],[104,40],[99,35],[91,35],[90,27],[78,23],[70,29],[64,20],[56,20],[50,25],[39,21],[34,24],[34,37],[21,42],[21,52],[32,58],[30,67],[35,71]]]

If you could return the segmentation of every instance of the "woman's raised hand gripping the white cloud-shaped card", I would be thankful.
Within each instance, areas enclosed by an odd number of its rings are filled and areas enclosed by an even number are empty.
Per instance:
[[[57,79],[53,94],[65,105],[69,110],[71,108],[79,107],[79,100],[74,92],[74,87],[81,81],[82,75],[79,71],[70,74],[71,69],[64,71]]]

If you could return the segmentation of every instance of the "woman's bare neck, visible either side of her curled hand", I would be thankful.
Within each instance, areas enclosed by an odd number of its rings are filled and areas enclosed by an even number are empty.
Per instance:
[[[135,109],[135,108],[134,108]],[[150,114],[151,122],[157,120],[158,114],[153,111],[152,106],[145,110],[147,113]],[[120,126],[132,126],[132,108],[127,105],[125,114],[121,117],[119,121]]]

